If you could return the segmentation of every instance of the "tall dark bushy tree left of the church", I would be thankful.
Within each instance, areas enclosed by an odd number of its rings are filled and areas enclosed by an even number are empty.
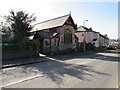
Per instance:
[[[29,15],[25,11],[10,11],[10,15],[5,16],[14,32],[15,43],[25,43],[29,31],[32,29],[31,23],[36,20],[34,14]]]

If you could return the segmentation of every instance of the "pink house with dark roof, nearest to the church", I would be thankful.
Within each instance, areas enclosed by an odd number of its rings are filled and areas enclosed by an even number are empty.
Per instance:
[[[82,47],[83,51],[88,48],[85,44],[91,43],[96,48],[99,47],[99,32],[93,31],[92,28],[80,26],[75,34],[78,37],[79,47]]]

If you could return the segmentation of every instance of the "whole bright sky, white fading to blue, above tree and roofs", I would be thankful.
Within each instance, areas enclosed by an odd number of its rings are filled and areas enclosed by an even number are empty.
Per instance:
[[[108,34],[111,39],[118,38],[118,2],[87,1],[3,0],[2,5],[6,7],[0,6],[0,15],[7,15],[10,9],[26,10],[31,14],[35,13],[37,23],[69,14],[71,11],[78,26],[83,25],[83,21],[87,19],[86,27],[92,27],[103,35]]]

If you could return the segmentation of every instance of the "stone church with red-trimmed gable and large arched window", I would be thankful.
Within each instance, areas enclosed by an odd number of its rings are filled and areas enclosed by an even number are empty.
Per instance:
[[[76,49],[77,25],[70,14],[40,22],[30,31],[40,53],[52,54]]]

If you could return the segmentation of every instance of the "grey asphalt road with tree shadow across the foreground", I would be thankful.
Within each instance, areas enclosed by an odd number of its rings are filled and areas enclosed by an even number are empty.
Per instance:
[[[114,51],[48,59],[51,61],[3,69],[4,88],[118,87],[118,54]]]

